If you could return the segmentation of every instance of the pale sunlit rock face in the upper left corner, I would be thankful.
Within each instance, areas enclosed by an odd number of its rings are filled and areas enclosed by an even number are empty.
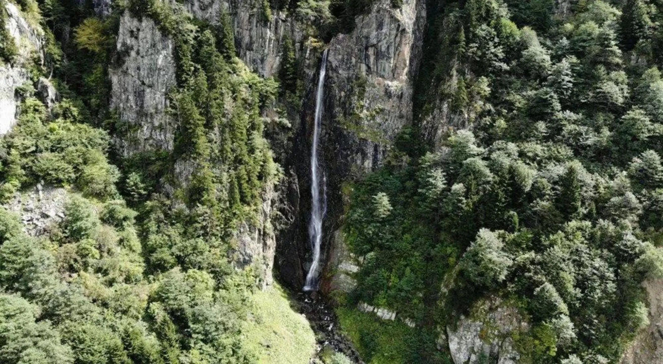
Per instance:
[[[5,26],[19,52],[12,64],[0,65],[0,136],[7,134],[16,123],[20,103],[16,88],[30,81],[30,63],[40,63],[44,58],[44,32],[41,28],[30,25],[13,3],[5,3],[5,11]]]

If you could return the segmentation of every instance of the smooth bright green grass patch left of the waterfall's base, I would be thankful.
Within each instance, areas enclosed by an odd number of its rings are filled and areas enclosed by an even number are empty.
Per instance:
[[[285,291],[274,284],[251,297],[245,345],[261,364],[308,364],[316,337],[308,321],[290,306]]]

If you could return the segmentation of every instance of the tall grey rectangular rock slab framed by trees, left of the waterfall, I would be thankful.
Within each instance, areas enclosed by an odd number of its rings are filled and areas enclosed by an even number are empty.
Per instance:
[[[173,41],[148,17],[129,11],[120,18],[117,34],[119,67],[110,69],[111,109],[117,111],[122,134],[115,138],[123,156],[172,150],[174,122],[168,113],[168,91],[176,85]]]

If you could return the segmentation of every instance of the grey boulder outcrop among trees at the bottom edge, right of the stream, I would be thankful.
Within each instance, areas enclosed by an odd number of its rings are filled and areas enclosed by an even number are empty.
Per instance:
[[[471,317],[446,328],[449,351],[455,364],[516,364],[520,355],[512,335],[528,330],[515,308],[497,298],[475,304]],[[442,334],[444,335],[444,334]],[[442,337],[438,342],[444,342]],[[491,361],[487,361],[491,358]]]

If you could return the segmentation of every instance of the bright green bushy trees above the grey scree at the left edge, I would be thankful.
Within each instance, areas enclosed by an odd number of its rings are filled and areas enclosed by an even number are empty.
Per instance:
[[[115,195],[119,172],[104,157],[109,138],[80,123],[73,103],[63,101],[50,116],[40,101],[29,98],[21,110],[19,124],[1,142],[11,151],[0,160],[5,184],[76,183],[84,193],[99,199]]]

